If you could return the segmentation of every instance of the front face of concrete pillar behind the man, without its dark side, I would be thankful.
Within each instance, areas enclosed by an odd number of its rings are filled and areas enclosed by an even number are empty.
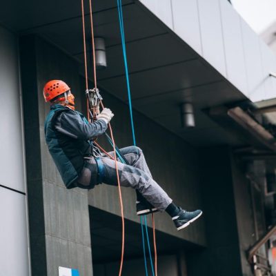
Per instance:
[[[36,50],[39,124],[43,130],[44,119],[49,110],[42,95],[43,85],[49,79],[63,79],[75,92],[79,86],[79,77],[75,61],[57,48],[37,39]],[[77,93],[75,94],[78,99]],[[40,139],[41,144],[45,144],[43,131]],[[46,168],[42,168],[42,171],[48,275],[55,275],[58,266],[77,268],[81,275],[92,275],[91,255],[84,258],[91,250],[87,191],[79,188],[66,190],[46,146],[41,146],[41,159],[46,159]],[[68,242],[71,242],[71,247],[75,247],[74,256],[68,255]],[[51,259],[52,255],[55,259]]]

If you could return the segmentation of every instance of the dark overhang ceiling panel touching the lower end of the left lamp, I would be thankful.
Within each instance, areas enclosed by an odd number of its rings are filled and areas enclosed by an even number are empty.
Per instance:
[[[128,42],[126,50],[130,59],[128,63],[130,73],[195,58],[192,51],[188,50],[181,42],[172,39],[171,34],[168,33]],[[121,44],[110,46],[106,51],[108,67],[105,70],[99,70],[98,78],[106,79],[115,75],[124,75]],[[83,58],[83,55],[78,57]]]

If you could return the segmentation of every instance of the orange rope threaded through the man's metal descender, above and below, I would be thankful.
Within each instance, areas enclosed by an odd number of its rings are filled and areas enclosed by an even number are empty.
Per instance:
[[[97,89],[97,75],[96,75],[96,55],[95,55],[95,43],[94,43],[94,30],[93,30],[93,20],[92,20],[92,3],[89,0],[89,7],[90,7],[90,26],[91,26],[91,36],[92,36],[92,54],[93,54],[93,69],[94,69],[94,83],[95,88]],[[84,63],[85,63],[85,74],[86,74],[86,90],[88,89],[88,76],[87,76],[87,59],[86,59],[86,32],[85,32],[85,22],[84,22],[84,8],[83,8],[83,0],[81,0],[81,12],[82,12],[82,23],[83,23],[83,49],[84,49]],[[104,108],[103,103],[100,101],[101,108]],[[87,101],[87,110],[88,110],[88,121],[89,119],[89,103]],[[95,108],[93,108],[93,116],[95,115]],[[115,148],[115,141],[113,137],[113,132],[111,125],[108,124],[108,128],[110,130],[110,137],[112,139],[113,150],[114,150],[114,161],[115,161],[115,168],[116,168],[116,175],[117,175],[117,183],[118,183],[118,190],[119,190],[119,201],[121,206],[121,224],[122,224],[122,242],[121,242],[121,262],[119,268],[119,276],[121,276],[124,264],[124,245],[125,245],[125,223],[124,223],[124,206],[123,206],[123,199],[121,196],[121,184],[120,184],[120,177],[119,177],[119,170],[118,170],[118,163],[116,157],[116,148]],[[95,144],[97,142],[94,141]],[[97,144],[99,146],[99,144]],[[99,146],[101,148],[101,146]],[[101,148],[103,150],[103,148]],[[108,155],[106,150],[103,150]],[[110,155],[109,155],[110,156]],[[110,156],[111,157],[111,156]]]

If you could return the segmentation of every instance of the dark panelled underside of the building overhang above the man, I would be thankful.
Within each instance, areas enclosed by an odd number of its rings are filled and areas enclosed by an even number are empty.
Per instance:
[[[105,39],[108,59],[108,67],[97,72],[99,88],[103,97],[106,91],[127,103],[116,3],[93,1],[92,8],[95,36]],[[204,110],[247,97],[139,1],[123,1],[123,9],[134,108],[193,146],[244,145]],[[1,9],[0,23],[19,36],[38,34],[62,48],[79,61],[83,75],[81,1],[12,0]],[[90,43],[87,13],[86,33]],[[195,110],[192,129],[181,126],[179,106],[186,102]]]

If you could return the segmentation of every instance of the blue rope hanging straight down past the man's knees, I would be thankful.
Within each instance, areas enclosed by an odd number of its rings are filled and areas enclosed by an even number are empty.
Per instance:
[[[121,6],[121,0],[117,0],[117,7],[118,7],[118,14],[119,14],[119,26],[120,26],[120,32],[121,32],[121,46],[123,50],[123,56],[124,56],[124,66],[125,66],[125,72],[126,72],[126,86],[128,88],[128,106],[130,111],[130,122],[131,122],[131,130],[132,130],[132,139],[133,139],[133,145],[136,146],[136,139],[135,139],[135,128],[134,128],[134,122],[133,122],[133,115],[132,115],[132,101],[131,101],[131,93],[130,93],[130,81],[129,81],[129,75],[128,75],[128,61],[126,57],[126,41],[125,41],[125,32],[124,32],[124,19],[123,19],[123,9]],[[148,253],[150,255],[150,265],[152,268],[152,275],[155,276],[154,270],[153,270],[153,264],[152,264],[152,257],[150,252],[150,241],[148,238],[148,226],[146,224],[146,215],[143,216],[145,221],[145,228],[146,228],[146,237],[148,241]],[[142,217],[141,217],[142,221]],[[144,239],[144,230],[143,230],[143,224],[141,224],[141,230],[142,230],[142,239],[143,239],[143,249],[144,249],[144,262],[145,262],[145,269],[146,269],[146,275],[148,275],[148,268],[146,264],[146,249],[145,249],[145,239]]]

